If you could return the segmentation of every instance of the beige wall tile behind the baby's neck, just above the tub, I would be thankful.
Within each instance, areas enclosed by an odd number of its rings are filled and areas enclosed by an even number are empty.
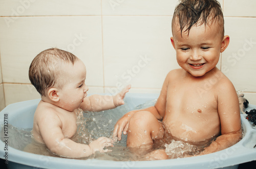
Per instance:
[[[16,102],[40,98],[40,94],[32,85],[5,83],[4,90],[6,106]]]

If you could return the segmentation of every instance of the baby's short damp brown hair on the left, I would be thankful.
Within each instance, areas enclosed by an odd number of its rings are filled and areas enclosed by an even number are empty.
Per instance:
[[[46,96],[46,89],[54,85],[63,86],[63,82],[57,77],[62,73],[61,63],[74,63],[78,58],[57,48],[48,49],[39,53],[29,67],[29,80],[36,90]]]

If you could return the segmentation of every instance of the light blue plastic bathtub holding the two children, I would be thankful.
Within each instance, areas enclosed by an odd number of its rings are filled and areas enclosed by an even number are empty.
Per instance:
[[[133,94],[126,95],[126,104],[135,108],[146,101],[156,99],[157,94]],[[8,114],[8,123],[15,127],[32,128],[33,114],[39,100],[19,102],[7,106],[0,112],[0,125],[4,125],[5,114]],[[256,106],[249,105],[247,111]],[[125,112],[124,112],[125,113]],[[256,129],[241,114],[241,122],[245,135],[241,141],[234,146],[203,156],[177,158],[156,161],[110,161],[110,160],[77,160],[58,157],[36,155],[8,147],[9,168],[237,168],[238,164],[256,159]],[[4,156],[6,144],[0,141],[0,158]]]

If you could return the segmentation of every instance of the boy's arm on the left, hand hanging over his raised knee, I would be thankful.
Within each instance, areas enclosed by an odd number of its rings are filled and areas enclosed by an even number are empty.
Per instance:
[[[127,134],[128,128],[129,128],[129,120],[130,118],[137,112],[139,111],[149,111],[151,112],[153,115],[155,115],[155,117],[159,120],[161,120],[164,117],[165,114],[165,104],[166,104],[166,94],[167,94],[167,86],[168,86],[168,82],[169,82],[169,78],[170,77],[170,73],[166,76],[163,86],[162,86],[162,90],[160,92],[160,95],[157,99],[157,102],[155,104],[155,106],[151,106],[145,109],[140,109],[140,110],[133,110],[130,111],[126,114],[124,114],[115,124],[115,128],[113,131],[113,137],[117,136],[118,140],[121,140],[121,135],[122,132],[123,134]]]

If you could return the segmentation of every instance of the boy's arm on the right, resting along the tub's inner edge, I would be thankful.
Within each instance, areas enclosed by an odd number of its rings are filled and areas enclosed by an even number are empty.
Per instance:
[[[225,85],[226,84],[226,85]],[[212,141],[201,154],[209,154],[236,144],[241,136],[241,117],[237,92],[230,81],[223,82],[218,89],[218,113],[221,135]]]

